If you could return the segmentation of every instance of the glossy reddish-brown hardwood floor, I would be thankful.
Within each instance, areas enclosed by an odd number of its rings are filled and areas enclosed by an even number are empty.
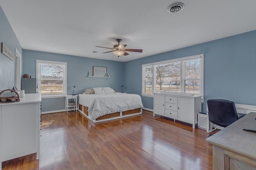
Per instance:
[[[79,112],[42,115],[36,154],[2,162],[3,170],[212,170],[208,133],[143,110],[94,124]]]

